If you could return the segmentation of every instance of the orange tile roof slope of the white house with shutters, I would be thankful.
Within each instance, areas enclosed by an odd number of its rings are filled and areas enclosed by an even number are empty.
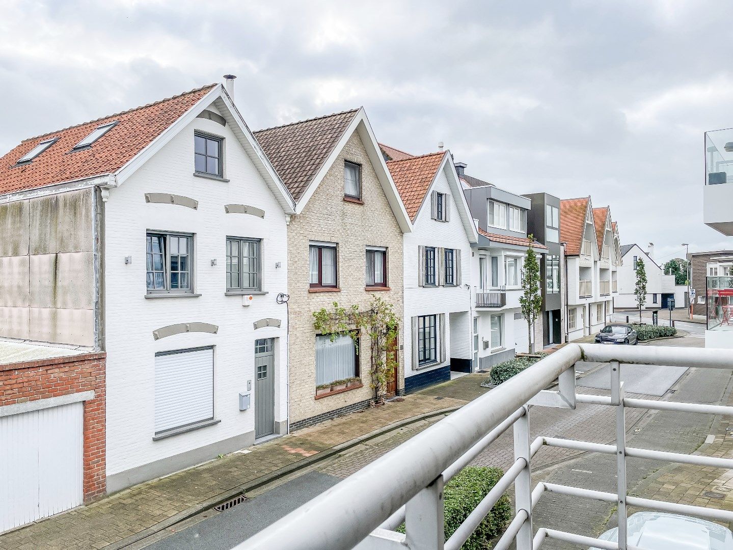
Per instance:
[[[394,185],[397,185],[399,196],[402,198],[402,203],[405,204],[405,210],[408,211],[410,220],[415,221],[420,205],[445,155],[446,152],[441,151],[387,162],[387,168],[392,174]]]

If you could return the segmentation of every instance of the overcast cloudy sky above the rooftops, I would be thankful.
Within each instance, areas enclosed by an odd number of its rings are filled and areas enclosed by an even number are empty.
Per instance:
[[[252,129],[364,105],[384,143],[610,205],[663,262],[733,245],[702,223],[732,22],[720,0],[4,0],[0,149],[233,73]]]

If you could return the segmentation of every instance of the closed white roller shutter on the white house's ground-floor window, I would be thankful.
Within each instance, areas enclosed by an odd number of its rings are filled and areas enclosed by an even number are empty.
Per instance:
[[[213,417],[213,348],[155,354],[155,434]]]

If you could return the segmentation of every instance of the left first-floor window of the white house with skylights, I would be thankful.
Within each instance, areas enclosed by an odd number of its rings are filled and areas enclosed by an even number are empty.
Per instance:
[[[147,293],[191,293],[194,288],[193,259],[193,235],[148,232]]]

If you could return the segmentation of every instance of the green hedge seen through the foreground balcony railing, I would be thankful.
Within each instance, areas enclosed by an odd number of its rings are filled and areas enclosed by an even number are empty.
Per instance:
[[[445,506],[445,535],[446,540],[463,523],[479,502],[496,485],[504,475],[498,468],[469,466],[459,472],[452,480],[446,483],[443,489]],[[490,540],[509,525],[512,519],[512,505],[506,494],[496,502],[494,507],[479,524],[474,534],[465,541],[462,550],[486,550],[491,548]],[[398,529],[405,532],[405,525]]]

